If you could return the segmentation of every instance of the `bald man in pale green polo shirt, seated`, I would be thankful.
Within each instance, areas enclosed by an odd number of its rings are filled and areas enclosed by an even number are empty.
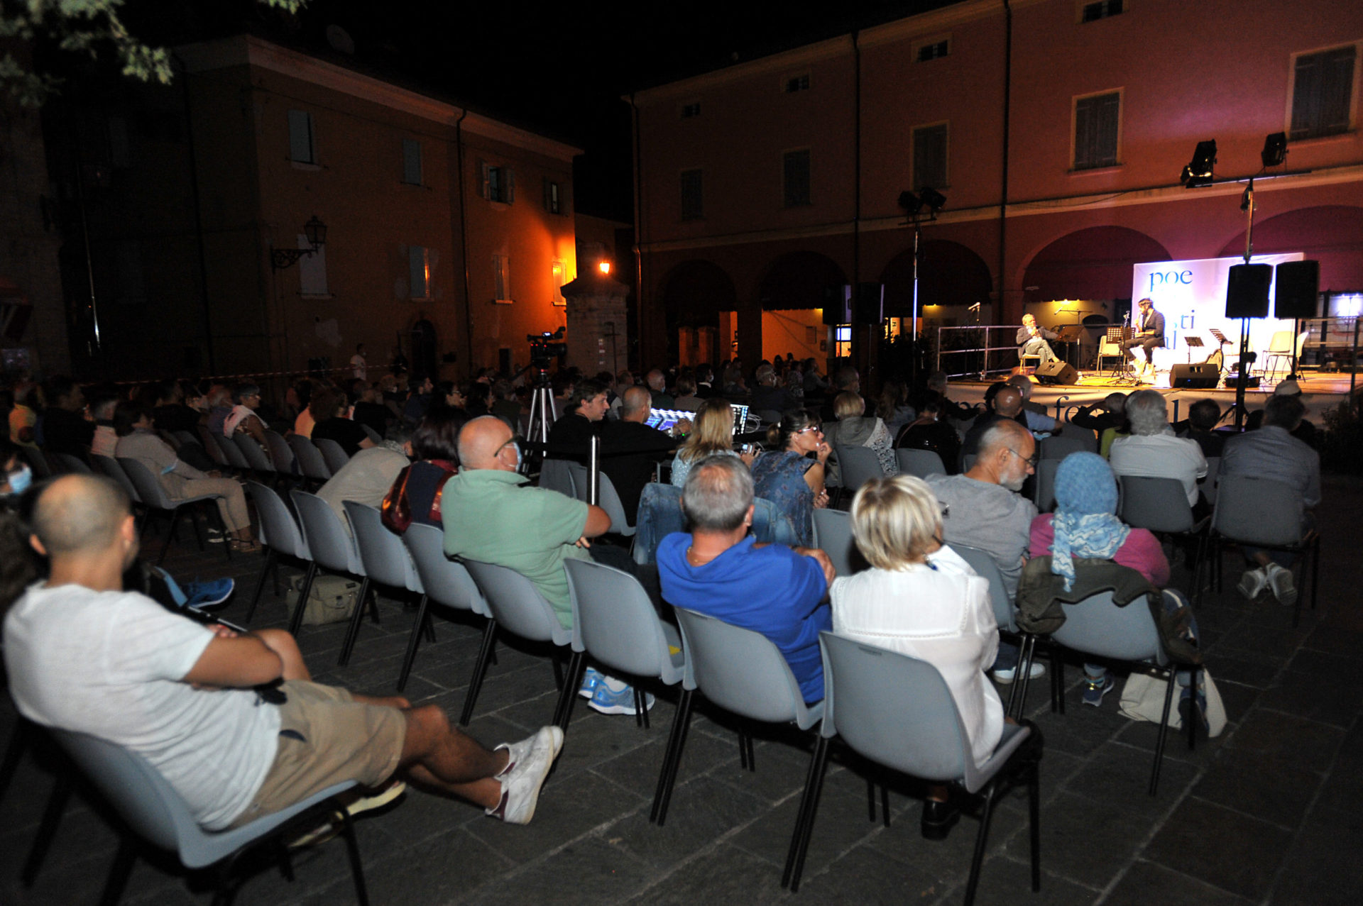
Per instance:
[[[587,538],[611,527],[601,507],[547,488],[523,488],[511,428],[493,416],[459,432],[459,473],[444,485],[444,552],[515,569],[533,582],[564,628],[572,625],[563,561],[589,560]]]

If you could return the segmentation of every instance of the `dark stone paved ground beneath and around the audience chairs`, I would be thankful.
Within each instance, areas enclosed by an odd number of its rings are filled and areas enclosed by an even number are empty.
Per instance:
[[[1319,610],[1291,628],[1272,601],[1247,604],[1225,591],[1198,612],[1208,663],[1229,723],[1195,752],[1172,741],[1159,796],[1145,794],[1156,728],[1116,710],[1079,707],[1071,663],[1067,713],[1051,714],[1045,683],[1029,711],[1045,734],[1043,762],[1043,886],[1028,892],[1025,800],[999,808],[984,864],[980,903],[1356,903],[1363,886],[1363,586],[1356,526],[1363,485],[1328,480],[1321,508],[1325,542]],[[217,554],[172,549],[181,576],[215,575]],[[225,610],[241,619],[259,575],[256,559],[233,564],[241,582]],[[1178,579],[1178,574],[1176,574]],[[1186,572],[1183,574],[1186,582]],[[365,623],[356,654],[335,668],[341,627],[304,629],[300,643],[322,681],[390,693],[412,624],[397,601],[382,602],[382,625]],[[285,605],[266,589],[256,625],[281,625]],[[438,621],[408,687],[413,702],[458,714],[477,653],[478,628]],[[472,732],[485,743],[519,738],[548,722],[553,678],[536,653],[499,644]],[[375,903],[500,902],[822,902],[955,903],[964,894],[976,824],[964,819],[946,842],[919,834],[913,789],[891,793],[890,827],[871,823],[866,785],[830,766],[804,884],[789,895],[781,865],[808,749],[766,733],[756,771],[739,767],[731,723],[698,714],[687,741],[668,823],[647,811],[675,695],[660,696],[653,726],[574,713],[556,772],[533,824],[507,827],[480,809],[409,792],[397,809],[358,823]],[[12,708],[3,707],[8,736]],[[98,896],[116,835],[79,800],[68,809],[35,886],[19,868],[52,787],[46,764],[29,757],[0,802],[0,899],[85,903]],[[294,883],[270,868],[241,890],[243,903],[353,901],[343,845],[322,845],[296,860]],[[139,861],[128,903],[207,902],[204,879],[166,858]]]

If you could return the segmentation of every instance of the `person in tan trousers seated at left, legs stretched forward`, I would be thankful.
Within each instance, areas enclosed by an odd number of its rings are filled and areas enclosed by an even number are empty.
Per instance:
[[[233,535],[229,542],[232,549],[247,553],[260,549],[251,534],[251,514],[247,512],[247,497],[241,485],[232,478],[214,478],[180,459],[170,444],[157,436],[151,428],[151,417],[138,403],[119,403],[113,410],[113,431],[119,435],[114,454],[144,465],[161,482],[170,500],[217,495],[218,515]],[[215,530],[209,531],[211,537]]]

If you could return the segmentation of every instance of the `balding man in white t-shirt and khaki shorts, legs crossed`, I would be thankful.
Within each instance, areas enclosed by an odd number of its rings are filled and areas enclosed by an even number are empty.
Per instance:
[[[41,492],[31,544],[50,557],[4,621],[10,693],[30,721],[147,759],[203,827],[237,827],[342,781],[395,772],[523,824],[563,744],[557,728],[485,749],[438,706],[312,683],[288,632],[204,627],[123,591],[138,553],[113,482]]]

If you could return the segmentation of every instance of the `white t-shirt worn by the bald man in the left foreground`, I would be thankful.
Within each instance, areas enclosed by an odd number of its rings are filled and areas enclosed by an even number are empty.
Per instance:
[[[34,584],[4,621],[10,695],[35,723],[138,752],[199,824],[222,830],[274,763],[279,710],[248,689],[180,681],[211,640],[135,591]]]

